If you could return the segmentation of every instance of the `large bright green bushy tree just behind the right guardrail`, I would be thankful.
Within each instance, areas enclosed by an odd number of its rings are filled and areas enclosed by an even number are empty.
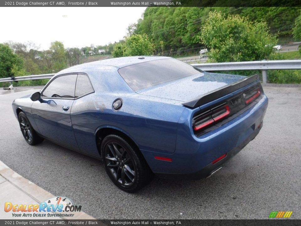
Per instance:
[[[200,38],[214,62],[269,59],[277,42],[265,22],[250,22],[239,15],[225,18],[216,12],[209,13]]]

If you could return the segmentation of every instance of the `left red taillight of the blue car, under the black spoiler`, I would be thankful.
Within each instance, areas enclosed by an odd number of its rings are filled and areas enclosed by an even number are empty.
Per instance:
[[[218,107],[208,110],[194,118],[193,129],[195,131],[203,129],[214,122],[223,119],[230,114],[230,107],[227,104],[219,105]]]

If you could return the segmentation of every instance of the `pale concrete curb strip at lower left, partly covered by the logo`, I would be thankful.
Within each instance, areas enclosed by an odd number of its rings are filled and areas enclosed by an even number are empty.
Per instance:
[[[23,176],[17,174],[10,169],[6,164],[0,161],[0,175],[4,177],[13,186],[17,187],[20,191],[23,191],[27,196],[37,201],[37,203],[44,202],[45,200],[55,197],[55,195],[37,186],[33,182],[25,179]],[[3,182],[0,182],[0,190]],[[8,197],[9,198],[9,197]],[[2,211],[2,210],[1,210]],[[95,220],[92,216],[84,212],[76,212],[74,217],[62,217],[66,220]]]

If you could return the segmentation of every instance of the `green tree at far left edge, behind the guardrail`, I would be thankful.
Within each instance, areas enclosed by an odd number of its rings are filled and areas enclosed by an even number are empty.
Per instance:
[[[23,70],[22,58],[13,53],[8,45],[0,43],[0,78],[21,76]]]

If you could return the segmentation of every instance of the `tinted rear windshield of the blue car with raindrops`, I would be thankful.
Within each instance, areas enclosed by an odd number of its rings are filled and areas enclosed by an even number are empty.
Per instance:
[[[118,70],[133,89],[144,89],[202,73],[191,65],[176,59],[162,59],[133,64]]]

